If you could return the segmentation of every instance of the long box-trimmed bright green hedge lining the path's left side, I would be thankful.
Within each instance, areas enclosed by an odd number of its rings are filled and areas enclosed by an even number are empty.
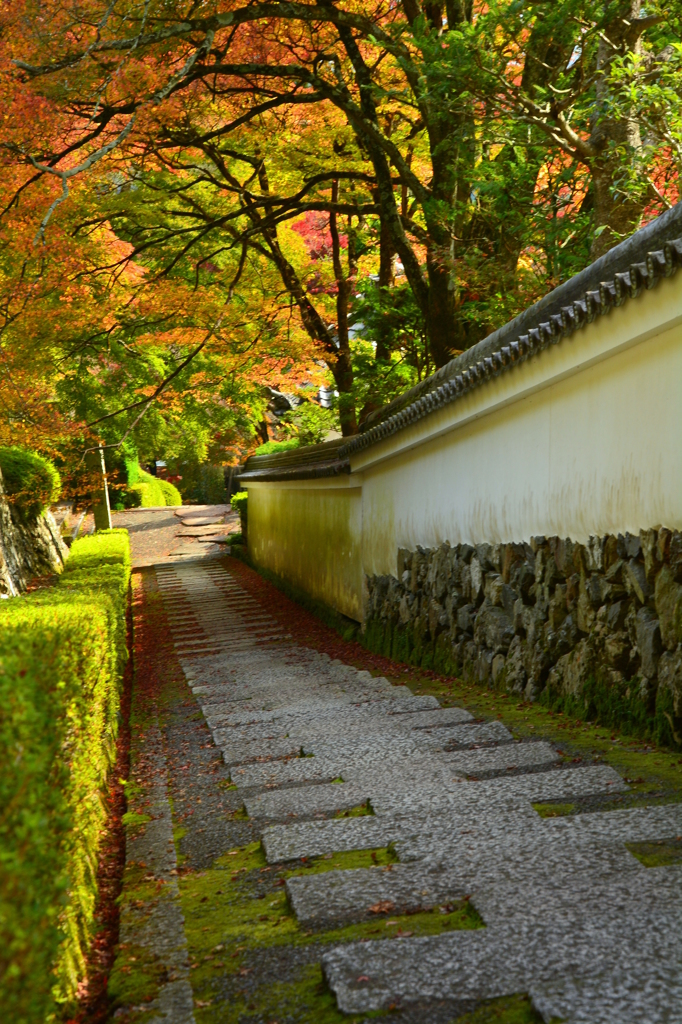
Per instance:
[[[0,605],[0,991],[43,1024],[85,970],[116,753],[130,553],[124,530],[74,543],[53,588]]]

